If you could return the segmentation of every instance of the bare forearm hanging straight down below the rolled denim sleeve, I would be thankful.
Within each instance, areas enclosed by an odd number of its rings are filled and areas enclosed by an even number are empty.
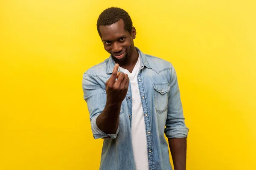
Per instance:
[[[168,139],[175,170],[186,170],[186,138]]]

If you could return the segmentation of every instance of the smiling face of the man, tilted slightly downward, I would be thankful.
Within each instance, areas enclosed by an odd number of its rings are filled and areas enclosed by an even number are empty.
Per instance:
[[[133,27],[131,34],[125,31],[123,20],[110,26],[99,26],[105,50],[111,54],[115,61],[125,62],[134,49],[133,39],[136,30]]]

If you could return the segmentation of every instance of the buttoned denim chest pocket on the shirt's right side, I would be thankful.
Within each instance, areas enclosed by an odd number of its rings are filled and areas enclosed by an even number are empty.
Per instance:
[[[158,113],[163,113],[168,108],[170,86],[168,83],[154,83],[154,106]]]

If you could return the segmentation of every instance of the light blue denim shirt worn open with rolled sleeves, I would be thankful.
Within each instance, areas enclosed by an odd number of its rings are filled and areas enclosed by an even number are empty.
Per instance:
[[[180,90],[175,69],[170,62],[140,53],[137,77],[145,119],[149,170],[172,170],[167,138],[187,137]],[[106,134],[96,125],[105,108],[105,82],[111,77],[114,65],[110,56],[83,75],[84,99],[90,113],[94,139],[104,139],[100,170],[136,170],[131,142],[132,96],[131,85],[122,102],[119,127],[115,134]]]

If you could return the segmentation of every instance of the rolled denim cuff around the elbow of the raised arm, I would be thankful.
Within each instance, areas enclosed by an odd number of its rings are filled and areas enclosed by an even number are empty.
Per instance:
[[[104,133],[102,130],[99,129],[99,127],[96,124],[96,119],[97,119],[98,116],[99,116],[99,114],[94,116],[93,119],[91,120],[91,127],[92,127],[92,132],[93,132],[94,139],[99,139],[99,138],[102,138],[102,139],[116,139],[116,137],[119,133],[119,125],[118,125],[118,128],[116,130],[116,133],[114,133],[114,134]]]

